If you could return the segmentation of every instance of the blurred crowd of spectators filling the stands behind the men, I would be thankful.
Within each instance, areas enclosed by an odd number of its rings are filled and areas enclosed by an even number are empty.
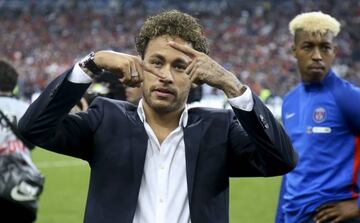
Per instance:
[[[342,24],[334,69],[360,85],[358,0],[0,0],[0,57],[16,66],[20,94],[30,98],[91,51],[135,53],[143,20],[173,8],[199,18],[215,60],[256,93],[267,89],[276,96],[299,80],[288,22],[304,11],[329,13]]]

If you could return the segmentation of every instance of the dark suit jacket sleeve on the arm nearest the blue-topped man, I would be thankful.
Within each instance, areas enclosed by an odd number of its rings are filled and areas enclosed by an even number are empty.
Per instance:
[[[253,99],[250,112],[233,107],[228,136],[230,176],[283,175],[295,167],[297,153],[268,108],[254,94]]]

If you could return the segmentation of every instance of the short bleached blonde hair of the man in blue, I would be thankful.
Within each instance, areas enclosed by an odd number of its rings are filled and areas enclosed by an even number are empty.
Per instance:
[[[310,33],[325,34],[331,32],[334,37],[340,32],[340,23],[333,17],[322,12],[306,12],[297,15],[289,23],[289,30],[292,35],[302,30]]]

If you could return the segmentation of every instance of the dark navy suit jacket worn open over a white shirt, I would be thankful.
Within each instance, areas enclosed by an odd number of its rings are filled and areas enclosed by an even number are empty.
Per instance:
[[[68,114],[87,87],[59,76],[29,107],[19,129],[40,147],[88,161],[84,222],[131,223],[148,136],[136,107],[127,102],[98,97],[87,112]],[[283,128],[253,97],[251,112],[189,110],[183,130],[192,223],[229,221],[229,177],[281,175],[296,164]]]

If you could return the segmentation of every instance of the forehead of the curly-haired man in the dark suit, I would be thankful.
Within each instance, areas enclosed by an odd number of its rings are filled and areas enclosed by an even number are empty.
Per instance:
[[[186,42],[180,37],[173,37],[168,35],[159,36],[149,41],[145,51],[145,57],[161,55],[163,57],[173,56],[173,57],[181,57],[186,60],[190,59],[190,57],[185,53],[176,50],[170,45],[168,45],[169,41],[173,41],[181,45],[192,47],[189,42]]]

